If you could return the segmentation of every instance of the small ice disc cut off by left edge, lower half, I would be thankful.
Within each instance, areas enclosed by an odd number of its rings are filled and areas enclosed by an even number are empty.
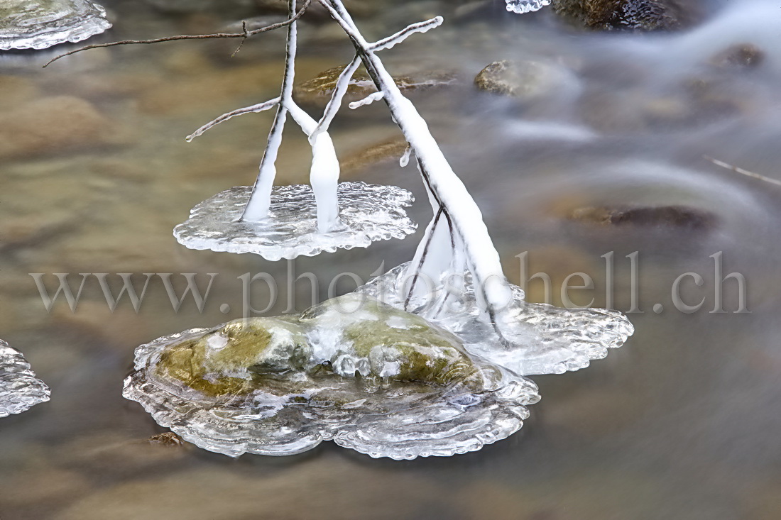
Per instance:
[[[0,417],[48,401],[49,389],[35,377],[20,351],[0,340]]]

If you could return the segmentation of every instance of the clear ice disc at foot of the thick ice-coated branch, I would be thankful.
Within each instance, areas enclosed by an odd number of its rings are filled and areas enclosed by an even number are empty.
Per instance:
[[[357,292],[395,308],[405,308],[405,287],[409,287],[411,280],[408,266],[407,263],[391,269],[359,287]],[[454,281],[462,287],[453,290]],[[433,290],[412,297],[406,305],[409,312],[454,333],[471,354],[522,376],[583,369],[591,360],[607,356],[609,349],[621,347],[634,332],[621,312],[528,303],[516,286],[510,287],[512,299],[497,316],[494,326],[480,312],[468,272],[450,280],[451,290],[428,284]],[[503,337],[499,337],[497,329]]]

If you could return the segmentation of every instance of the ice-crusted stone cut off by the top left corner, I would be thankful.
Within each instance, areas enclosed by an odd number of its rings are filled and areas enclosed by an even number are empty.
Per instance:
[[[0,50],[52,47],[109,29],[102,5],[90,0],[3,0]]]

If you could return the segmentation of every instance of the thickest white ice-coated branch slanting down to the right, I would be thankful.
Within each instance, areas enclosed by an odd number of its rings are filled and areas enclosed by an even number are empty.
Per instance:
[[[349,20],[341,0],[319,0],[319,2],[348,34],[377,90],[384,92],[384,100],[391,109],[391,115],[418,158],[420,173],[430,192],[434,211],[438,212],[439,208],[443,208],[445,218],[429,226],[426,237],[419,246],[419,253],[416,255],[416,258],[419,258],[419,270],[425,270],[430,266],[430,269],[440,275],[433,280],[440,280],[442,275],[455,268],[452,264],[451,269],[445,268],[442,265],[444,258],[460,257],[459,253],[463,252],[463,258],[458,258],[458,262],[464,263],[473,273],[480,308],[491,322],[495,323],[495,316],[507,305],[512,294],[507,287],[499,255],[483,223],[480,208],[444,157],[437,141],[430,134],[426,121],[412,102],[401,94],[393,77],[366,43],[355,24]],[[446,240],[448,237],[441,236],[445,230],[443,222],[446,223],[450,240]],[[434,255],[436,262],[429,263],[428,258],[431,255],[423,255],[421,248],[425,249],[431,243],[441,250],[448,241],[450,242],[449,254],[440,251]],[[413,273],[417,272],[418,270],[413,271]]]

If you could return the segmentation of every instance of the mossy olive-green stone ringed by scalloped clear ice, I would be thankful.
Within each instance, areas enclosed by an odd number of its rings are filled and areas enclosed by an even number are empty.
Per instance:
[[[184,440],[234,457],[333,440],[395,459],[478,450],[517,431],[539,400],[529,379],[363,294],[141,345],[123,395]]]

